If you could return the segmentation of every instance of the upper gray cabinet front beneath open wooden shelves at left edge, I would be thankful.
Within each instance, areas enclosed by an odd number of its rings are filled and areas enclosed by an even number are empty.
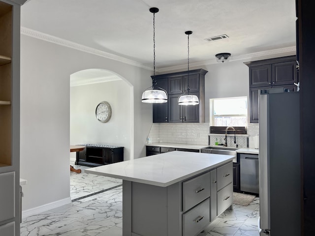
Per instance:
[[[4,221],[15,217],[15,172],[0,174],[0,189],[0,221]]]

